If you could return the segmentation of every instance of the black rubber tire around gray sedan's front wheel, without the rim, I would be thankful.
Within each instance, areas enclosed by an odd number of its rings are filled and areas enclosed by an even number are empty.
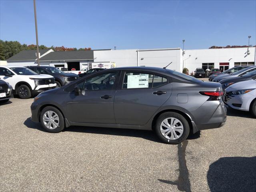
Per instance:
[[[56,113],[58,115],[58,118],[59,118],[58,126],[55,129],[47,128],[44,125],[43,116],[44,116],[44,113],[47,111],[53,111],[54,113]],[[58,133],[58,132],[61,132],[65,128],[64,117],[63,117],[62,113],[58,109],[56,109],[55,107],[52,107],[52,106],[45,107],[42,110],[42,112],[40,114],[40,123],[41,123],[42,127],[47,132],[50,132],[50,133]]]

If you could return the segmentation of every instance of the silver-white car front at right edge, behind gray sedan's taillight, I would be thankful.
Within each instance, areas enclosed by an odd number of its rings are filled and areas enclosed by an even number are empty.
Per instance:
[[[256,116],[256,80],[232,84],[226,88],[222,98],[231,108],[250,111]]]

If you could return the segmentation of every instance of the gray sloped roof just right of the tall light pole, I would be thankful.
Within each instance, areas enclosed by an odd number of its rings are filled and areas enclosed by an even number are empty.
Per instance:
[[[93,50],[88,51],[56,51],[40,58],[41,61],[56,60],[93,60]]]

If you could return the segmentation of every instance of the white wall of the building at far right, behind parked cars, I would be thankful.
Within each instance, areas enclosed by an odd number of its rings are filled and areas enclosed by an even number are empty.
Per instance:
[[[247,48],[185,50],[182,59],[184,59],[184,67],[188,68],[189,72],[202,68],[202,63],[214,63],[214,68],[219,68],[220,63],[229,62],[229,68],[232,68],[235,62],[254,62],[255,47],[250,47],[249,51],[250,54],[247,55]]]

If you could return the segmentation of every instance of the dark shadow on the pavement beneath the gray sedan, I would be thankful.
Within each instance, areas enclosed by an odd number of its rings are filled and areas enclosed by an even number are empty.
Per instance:
[[[38,129],[46,132],[39,123],[32,122],[30,118],[27,118],[24,125],[28,128]],[[128,136],[144,138],[146,140],[160,142],[154,131],[150,130],[134,130],[134,129],[120,129],[120,128],[106,128],[106,127],[86,127],[86,126],[70,126],[63,130],[64,132],[81,132],[81,133],[92,133],[92,134],[105,134],[105,135],[116,135],[116,136]],[[200,132],[189,135],[187,140],[192,140],[200,137]]]

